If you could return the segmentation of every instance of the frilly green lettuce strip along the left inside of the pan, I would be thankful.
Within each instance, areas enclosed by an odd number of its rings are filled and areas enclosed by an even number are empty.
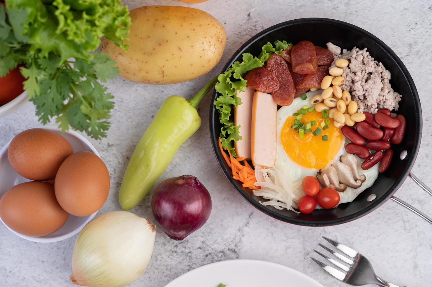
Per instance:
[[[232,156],[236,157],[234,143],[241,140],[239,134],[240,126],[235,126],[231,117],[232,106],[238,107],[241,104],[241,99],[237,97],[237,91],[245,91],[246,80],[242,78],[246,72],[251,69],[264,66],[271,54],[280,54],[292,44],[286,41],[276,41],[275,47],[270,42],[267,42],[262,48],[258,57],[254,57],[249,53],[243,54],[242,62],[234,62],[231,68],[225,73],[218,76],[219,82],[215,85],[215,90],[221,95],[213,102],[216,109],[219,111],[219,121],[222,123],[220,133],[220,141],[222,148],[231,152]]]

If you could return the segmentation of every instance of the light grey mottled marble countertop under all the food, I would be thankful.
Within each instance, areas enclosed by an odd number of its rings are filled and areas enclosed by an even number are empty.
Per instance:
[[[144,130],[169,95],[190,97],[219,73],[234,51],[264,28],[289,19],[326,17],[350,22],[388,44],[407,66],[422,101],[423,137],[413,173],[432,186],[432,5],[417,1],[348,0],[209,0],[186,4],[177,0],[122,1],[130,9],[146,5],[185,5],[203,9],[226,29],[227,44],[220,63],[199,79],[176,85],[142,85],[120,77],[106,85],[115,96],[111,129],[102,141],[90,139],[111,176],[111,192],[100,213],[120,210],[118,189],[128,157]],[[329,31],[331,33],[331,31]],[[426,71],[426,72],[425,72]],[[256,210],[230,186],[213,157],[208,110],[210,96],[199,106],[203,125],[181,146],[158,183],[185,173],[197,176],[210,191],[213,211],[209,221],[186,240],[170,240],[157,228],[152,260],[130,286],[162,287],[179,275],[211,262],[259,259],[301,271],[327,287],[345,284],[327,275],[309,258],[321,236],[346,243],[367,255],[382,278],[401,286],[432,286],[432,226],[392,201],[372,213],[332,227],[286,224]],[[0,118],[0,147],[18,132],[40,126],[31,103]],[[198,147],[198,148],[197,148]],[[194,151],[192,154],[191,151]],[[205,160],[204,160],[205,159]],[[187,163],[187,164],[185,164]],[[411,180],[396,195],[432,216],[432,200]],[[132,211],[154,222],[146,196]],[[72,286],[71,255],[76,236],[57,243],[33,243],[17,237],[0,224],[0,285],[10,287]],[[289,283],[289,282],[287,282]],[[289,285],[289,284],[288,284]]]

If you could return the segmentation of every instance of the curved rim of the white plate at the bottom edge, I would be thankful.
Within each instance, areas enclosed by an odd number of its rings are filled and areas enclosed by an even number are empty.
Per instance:
[[[324,285],[322,285],[318,281],[315,281],[314,279],[310,278],[308,275],[303,274],[300,271],[297,271],[295,269],[292,269],[290,267],[287,267],[285,265],[281,265],[278,263],[264,261],[264,260],[257,260],[257,259],[231,259],[231,260],[223,260],[223,261],[218,261],[218,262],[206,264],[206,265],[200,266],[198,268],[192,269],[190,271],[187,271],[186,273],[180,275],[179,277],[175,278],[173,281],[171,281],[170,283],[165,285],[165,287],[182,287],[181,285],[178,285],[178,282],[183,280],[184,278],[188,278],[189,276],[194,276],[195,274],[199,274],[203,270],[206,270],[206,269],[210,270],[211,268],[213,268],[215,266],[226,265],[226,264],[259,264],[259,265],[272,266],[272,267],[276,267],[276,268],[283,268],[287,272],[290,272],[291,274],[295,274],[295,276],[298,276],[299,278],[305,280],[305,283],[314,284],[314,285],[308,285],[308,287],[324,287]],[[223,282],[220,282],[220,283],[225,284]],[[215,287],[217,287],[217,286],[215,286]],[[230,286],[227,286],[227,287],[230,287]]]

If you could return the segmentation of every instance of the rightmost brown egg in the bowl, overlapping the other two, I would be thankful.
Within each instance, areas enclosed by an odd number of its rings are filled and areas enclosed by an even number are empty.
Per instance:
[[[109,173],[104,162],[89,151],[70,155],[58,169],[55,196],[61,207],[76,216],[96,212],[109,193]]]

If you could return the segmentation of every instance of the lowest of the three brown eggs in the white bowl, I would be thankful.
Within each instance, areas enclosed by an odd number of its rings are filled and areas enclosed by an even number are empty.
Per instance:
[[[58,204],[52,184],[30,181],[3,194],[0,218],[18,233],[45,236],[59,230],[69,214]]]

